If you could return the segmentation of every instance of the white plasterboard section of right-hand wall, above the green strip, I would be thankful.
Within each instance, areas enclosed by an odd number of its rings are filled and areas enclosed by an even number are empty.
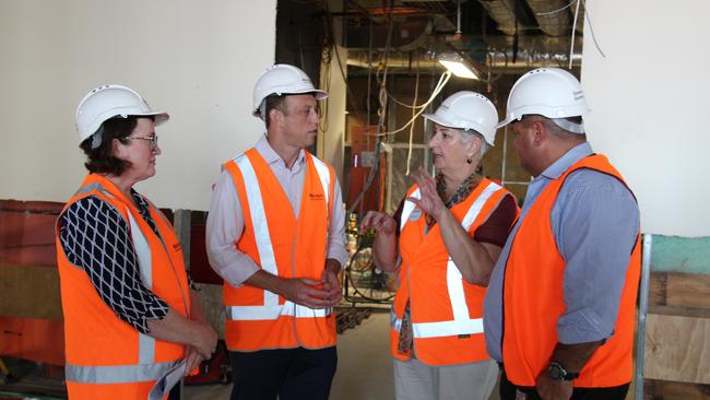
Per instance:
[[[585,119],[589,140],[636,192],[643,232],[710,235],[705,118],[710,3],[626,0],[587,7],[581,78],[592,108]]]

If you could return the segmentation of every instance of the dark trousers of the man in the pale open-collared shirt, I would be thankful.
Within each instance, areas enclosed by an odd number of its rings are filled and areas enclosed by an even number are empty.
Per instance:
[[[335,375],[335,346],[229,352],[232,400],[327,400]]]

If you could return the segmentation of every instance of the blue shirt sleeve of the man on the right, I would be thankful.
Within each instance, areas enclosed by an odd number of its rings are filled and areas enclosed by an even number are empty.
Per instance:
[[[615,177],[582,169],[567,177],[551,219],[566,262],[566,310],[557,320],[559,342],[605,340],[614,333],[639,234],[636,199]]]

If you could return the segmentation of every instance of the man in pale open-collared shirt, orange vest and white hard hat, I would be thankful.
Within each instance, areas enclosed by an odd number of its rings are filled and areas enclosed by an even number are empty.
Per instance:
[[[225,280],[232,398],[327,399],[345,217],[333,168],[304,149],[328,94],[288,64],[268,69],[253,94],[267,134],[224,164],[206,226],[210,263]]]

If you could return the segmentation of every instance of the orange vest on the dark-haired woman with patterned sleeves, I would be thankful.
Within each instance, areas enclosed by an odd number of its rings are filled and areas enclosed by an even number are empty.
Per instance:
[[[153,204],[156,236],[132,201],[100,175],[90,174],[62,213],[75,201],[94,196],[114,207],[130,227],[132,246],[145,287],[182,316],[190,297],[182,250],[173,226]],[[185,346],[138,332],[104,303],[82,267],[67,259],[56,226],[57,263],[64,314],[64,366],[69,398],[146,399],[153,385],[185,357]]]

